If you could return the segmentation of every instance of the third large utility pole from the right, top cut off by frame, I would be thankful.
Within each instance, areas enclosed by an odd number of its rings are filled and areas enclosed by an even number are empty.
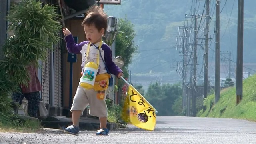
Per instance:
[[[204,29],[204,36],[205,36],[205,46],[204,46],[204,99],[208,94],[208,35],[209,35],[209,8],[210,7],[210,0],[206,0],[206,24]]]

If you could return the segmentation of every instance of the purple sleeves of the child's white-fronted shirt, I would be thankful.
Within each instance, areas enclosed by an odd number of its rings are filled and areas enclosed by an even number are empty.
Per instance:
[[[68,35],[65,37],[65,40],[66,40],[66,46],[67,46],[67,49],[68,49],[68,52],[69,53],[73,53],[73,54],[81,54],[81,50],[82,50],[82,47],[85,45],[85,44],[88,44],[88,41],[83,41],[83,42],[80,42],[79,44],[76,44],[75,41],[74,41],[74,38],[72,36],[72,34]],[[109,72],[111,74],[114,74],[115,76],[117,76],[120,72],[123,72],[112,60],[112,51],[111,51],[111,48],[106,45],[106,44],[103,44],[101,46],[102,50],[104,51],[104,60],[105,60],[105,63],[106,63],[106,67],[108,68]]]

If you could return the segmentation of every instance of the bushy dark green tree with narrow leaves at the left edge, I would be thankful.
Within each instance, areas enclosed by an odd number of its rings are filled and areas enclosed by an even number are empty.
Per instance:
[[[10,8],[7,16],[8,30],[14,36],[7,38],[3,46],[4,58],[0,61],[0,122],[13,123],[10,95],[18,92],[19,85],[28,85],[28,64],[38,66],[38,60],[46,60],[52,44],[60,40],[61,25],[56,8],[48,4],[41,7],[37,0],[22,0]],[[2,119],[3,118],[3,119]]]

